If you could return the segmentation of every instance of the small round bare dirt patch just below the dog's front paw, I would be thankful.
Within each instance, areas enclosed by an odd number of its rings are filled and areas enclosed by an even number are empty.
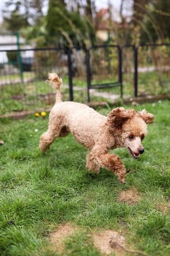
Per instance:
[[[130,188],[120,193],[118,201],[128,203],[128,204],[135,204],[135,203],[138,203],[139,199],[140,199],[140,196],[137,189]]]

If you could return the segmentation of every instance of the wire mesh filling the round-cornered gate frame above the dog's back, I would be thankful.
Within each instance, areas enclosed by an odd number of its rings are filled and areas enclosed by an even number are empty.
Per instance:
[[[90,89],[93,89],[93,95],[114,99],[118,95],[122,97],[122,50],[118,45],[90,47],[86,54],[86,65],[88,100]],[[100,92],[96,92],[96,89],[100,89]]]

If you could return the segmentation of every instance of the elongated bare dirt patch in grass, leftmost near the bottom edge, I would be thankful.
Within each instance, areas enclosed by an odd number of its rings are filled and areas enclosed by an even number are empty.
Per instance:
[[[50,234],[50,242],[53,250],[62,253],[64,249],[64,240],[71,236],[75,231],[75,226],[70,223],[59,225],[58,229]]]

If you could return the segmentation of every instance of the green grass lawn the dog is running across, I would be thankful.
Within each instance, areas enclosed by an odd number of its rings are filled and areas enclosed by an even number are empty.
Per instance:
[[[109,229],[125,237],[127,248],[170,255],[170,101],[136,108],[152,112],[155,122],[148,126],[145,153],[138,160],[126,149],[115,150],[130,169],[126,185],[108,170],[87,171],[86,149],[70,135],[41,155],[39,137],[47,116],[0,120],[1,255],[59,255],[50,234],[68,223],[77,229],[65,239],[62,255],[101,255],[91,235]],[[110,109],[98,111],[107,115]],[[138,199],[120,200],[130,189]]]

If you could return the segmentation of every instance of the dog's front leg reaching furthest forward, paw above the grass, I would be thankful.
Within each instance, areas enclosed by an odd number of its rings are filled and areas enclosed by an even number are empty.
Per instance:
[[[118,180],[125,184],[124,178],[126,174],[126,169],[118,155],[110,153],[91,152],[90,158],[101,167],[113,171],[118,177]]]

